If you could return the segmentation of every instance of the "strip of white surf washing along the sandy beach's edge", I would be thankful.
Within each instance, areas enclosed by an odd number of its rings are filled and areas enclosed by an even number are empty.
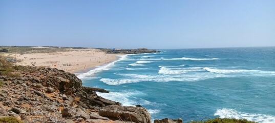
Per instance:
[[[90,70],[89,72],[87,73],[82,73],[82,74],[79,74],[77,75],[77,77],[79,79],[91,79],[93,78],[94,74],[97,73],[97,72],[100,72],[100,71],[103,71],[103,70],[109,70],[113,65],[115,65],[115,63],[117,61],[120,61],[120,60],[123,60],[127,57],[127,55],[118,55],[120,58],[110,64],[106,64],[106,65],[103,65],[103,66],[96,66],[95,69],[93,70]]]

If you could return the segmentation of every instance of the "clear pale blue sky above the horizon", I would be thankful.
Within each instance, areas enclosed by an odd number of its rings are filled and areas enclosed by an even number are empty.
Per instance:
[[[275,46],[275,1],[0,1],[0,46]]]

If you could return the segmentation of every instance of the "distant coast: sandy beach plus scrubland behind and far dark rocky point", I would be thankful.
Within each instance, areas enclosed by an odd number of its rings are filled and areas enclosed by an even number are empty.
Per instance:
[[[117,60],[117,55],[159,52],[140,49],[106,49],[52,46],[0,46],[0,55],[16,65],[46,66],[71,73],[88,72]]]

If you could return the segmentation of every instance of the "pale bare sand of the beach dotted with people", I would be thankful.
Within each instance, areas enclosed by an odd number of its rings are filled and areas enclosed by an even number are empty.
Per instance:
[[[38,48],[38,47],[37,47]],[[47,66],[74,73],[116,60],[117,54],[107,54],[98,49],[70,49],[54,53],[5,54],[22,60],[17,65]],[[120,54],[121,55],[121,54]]]

